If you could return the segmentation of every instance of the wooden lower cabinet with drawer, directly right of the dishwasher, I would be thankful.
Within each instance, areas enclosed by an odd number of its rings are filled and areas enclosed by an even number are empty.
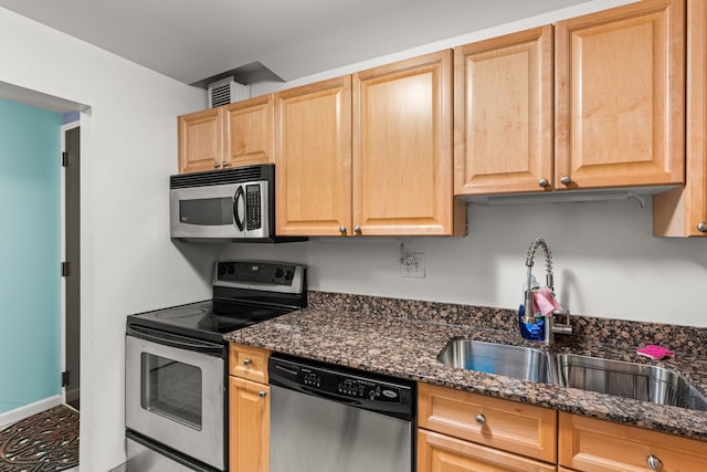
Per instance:
[[[418,472],[555,471],[557,411],[418,384]]]

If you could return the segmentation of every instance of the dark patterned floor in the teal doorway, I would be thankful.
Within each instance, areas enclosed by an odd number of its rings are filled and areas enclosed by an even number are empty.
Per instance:
[[[54,407],[0,430],[0,472],[77,471],[77,465],[78,411],[73,408]]]

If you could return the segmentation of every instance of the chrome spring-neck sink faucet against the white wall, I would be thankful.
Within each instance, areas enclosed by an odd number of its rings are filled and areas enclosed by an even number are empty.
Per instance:
[[[535,316],[532,313],[532,264],[535,261],[535,252],[538,248],[542,248],[545,252],[545,284],[548,286],[552,295],[555,295],[555,282],[552,276],[552,252],[548,242],[542,238],[536,238],[528,248],[528,255],[526,256],[526,266],[528,268],[528,280],[525,293],[525,306],[523,323],[535,324]],[[558,323],[553,318],[555,316],[563,315],[563,323]],[[545,318],[545,344],[550,346],[555,343],[555,334],[572,334],[572,326],[570,325],[570,314],[567,310],[555,311],[551,316]]]

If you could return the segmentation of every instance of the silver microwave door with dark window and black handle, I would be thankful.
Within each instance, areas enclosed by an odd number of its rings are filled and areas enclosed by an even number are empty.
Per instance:
[[[236,219],[239,212],[244,213],[245,202],[241,202],[241,198],[236,202],[236,192],[243,192],[241,183],[170,189],[170,235],[177,239],[244,238],[243,224],[241,221],[236,224]]]

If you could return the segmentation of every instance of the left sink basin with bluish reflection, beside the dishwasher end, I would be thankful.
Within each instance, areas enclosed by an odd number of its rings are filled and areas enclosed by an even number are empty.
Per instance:
[[[450,367],[551,382],[549,356],[542,349],[452,339],[440,353],[437,360]]]

